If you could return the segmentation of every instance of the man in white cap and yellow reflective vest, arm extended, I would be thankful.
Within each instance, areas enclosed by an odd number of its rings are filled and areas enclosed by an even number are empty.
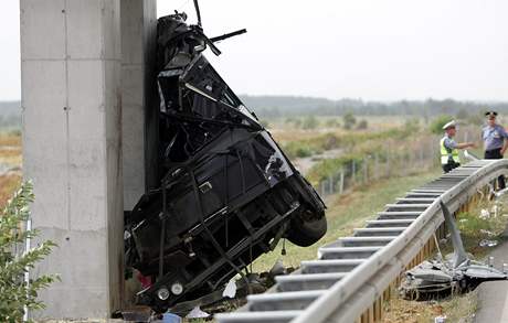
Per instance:
[[[443,171],[447,173],[451,170],[456,169],[461,165],[458,150],[475,147],[475,143],[455,142],[455,140],[453,139],[457,133],[457,122],[455,120],[452,120],[448,123],[444,125],[443,130],[445,130],[445,136],[440,141],[441,165],[443,166]]]

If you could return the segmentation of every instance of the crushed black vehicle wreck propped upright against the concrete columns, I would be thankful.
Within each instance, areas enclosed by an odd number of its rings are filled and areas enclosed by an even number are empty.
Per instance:
[[[195,3],[197,4],[197,3]],[[184,13],[159,19],[157,84],[163,176],[126,215],[126,261],[158,310],[223,287],[281,238],[309,246],[325,204],[210,65],[220,51]]]

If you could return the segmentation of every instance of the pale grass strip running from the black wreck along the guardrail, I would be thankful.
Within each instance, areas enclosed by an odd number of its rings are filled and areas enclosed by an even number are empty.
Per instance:
[[[273,252],[255,260],[253,270],[255,272],[269,270],[279,258],[285,266],[293,267],[299,266],[301,260],[315,259],[319,246],[350,234],[356,227],[362,227],[364,222],[372,218],[377,212],[382,211],[385,204],[392,203],[395,197],[435,179],[438,174],[438,172],[431,172],[405,177],[392,177],[342,196],[330,196],[327,202],[328,233],[319,243],[301,248],[286,241],[286,256],[281,255],[282,244],[279,244]]]

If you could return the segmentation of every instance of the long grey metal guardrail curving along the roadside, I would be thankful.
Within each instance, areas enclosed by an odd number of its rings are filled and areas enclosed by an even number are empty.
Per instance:
[[[441,201],[454,213],[507,172],[508,160],[477,160],[408,192],[351,237],[319,248],[318,260],[303,261],[294,273],[276,277],[267,293],[248,295],[245,306],[215,319],[220,323],[356,322],[444,222]]]

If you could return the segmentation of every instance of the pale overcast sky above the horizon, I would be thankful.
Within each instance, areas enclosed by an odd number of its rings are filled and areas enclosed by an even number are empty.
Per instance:
[[[506,0],[201,0],[215,68],[237,94],[508,100]],[[158,15],[192,0],[158,0]],[[19,1],[0,10],[0,100],[20,98]]]

